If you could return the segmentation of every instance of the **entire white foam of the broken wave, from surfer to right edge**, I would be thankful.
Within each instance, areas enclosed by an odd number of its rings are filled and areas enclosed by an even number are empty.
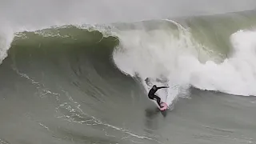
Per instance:
[[[173,30],[120,32],[120,45],[113,53],[116,66],[125,74],[141,78],[146,90],[153,84],[170,86],[158,92],[168,105],[179,94],[187,94],[190,86],[227,94],[256,95],[256,32],[240,30],[232,34],[231,57],[217,63],[209,48],[203,48],[189,30],[175,24],[178,36]],[[144,81],[146,78],[150,78],[150,85]]]

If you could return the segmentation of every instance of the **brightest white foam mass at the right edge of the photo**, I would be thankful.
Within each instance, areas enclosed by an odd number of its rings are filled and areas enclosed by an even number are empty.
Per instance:
[[[239,30],[230,36],[233,51],[221,64],[199,65],[191,84],[202,90],[218,90],[228,94],[256,95],[256,32]]]

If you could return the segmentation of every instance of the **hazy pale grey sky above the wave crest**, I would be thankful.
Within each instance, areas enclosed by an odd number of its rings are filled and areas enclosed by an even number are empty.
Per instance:
[[[18,26],[129,22],[255,8],[256,0],[2,0],[0,22]]]

